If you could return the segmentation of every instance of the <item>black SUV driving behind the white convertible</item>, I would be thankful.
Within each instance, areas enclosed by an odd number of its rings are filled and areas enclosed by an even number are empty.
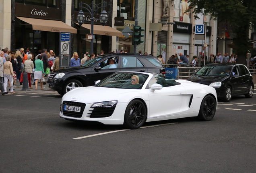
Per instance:
[[[113,60],[114,64],[111,64]],[[102,80],[118,71],[165,74],[163,64],[154,56],[131,53],[103,54],[81,66],[51,72],[47,86],[64,95],[74,88],[94,85],[97,80]]]

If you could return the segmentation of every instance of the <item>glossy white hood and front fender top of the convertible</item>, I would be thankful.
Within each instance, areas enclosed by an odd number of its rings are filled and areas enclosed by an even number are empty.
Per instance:
[[[102,101],[115,101],[118,103],[129,102],[133,97],[147,99],[145,90],[140,89],[117,89],[106,87],[82,87],[69,91],[63,97],[63,101],[76,101],[82,103],[96,103]]]

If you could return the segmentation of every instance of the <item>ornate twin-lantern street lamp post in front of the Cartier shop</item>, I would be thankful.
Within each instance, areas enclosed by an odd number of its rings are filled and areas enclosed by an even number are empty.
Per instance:
[[[102,6],[100,6],[101,4],[102,4]],[[78,24],[80,26],[85,22],[85,19],[86,19],[86,16],[85,16],[82,8],[86,9],[91,14],[91,35],[92,35],[91,53],[93,53],[93,22],[94,22],[93,18],[94,18],[94,14],[97,12],[97,10],[99,10],[100,8],[103,8],[103,11],[101,12],[101,15],[99,16],[99,21],[101,22],[102,26],[104,26],[108,21],[108,15],[105,10],[106,6],[107,6],[107,2],[105,2],[105,1],[101,2],[99,4],[94,4],[92,1],[92,3],[89,5],[86,3],[83,3],[83,2],[79,3],[80,12],[76,16],[76,20],[78,21]]]

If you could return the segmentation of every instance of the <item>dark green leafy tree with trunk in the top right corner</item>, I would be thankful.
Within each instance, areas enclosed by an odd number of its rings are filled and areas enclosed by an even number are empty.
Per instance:
[[[188,0],[190,10],[197,14],[211,14],[211,18],[233,25],[233,53],[238,63],[246,64],[246,54],[250,52],[252,42],[248,37],[249,29],[256,24],[256,0]]]

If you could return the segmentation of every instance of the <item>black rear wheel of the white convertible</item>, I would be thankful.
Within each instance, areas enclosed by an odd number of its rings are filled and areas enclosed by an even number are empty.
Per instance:
[[[213,96],[207,95],[202,100],[200,105],[200,110],[197,119],[202,121],[211,121],[216,112],[217,103]]]

